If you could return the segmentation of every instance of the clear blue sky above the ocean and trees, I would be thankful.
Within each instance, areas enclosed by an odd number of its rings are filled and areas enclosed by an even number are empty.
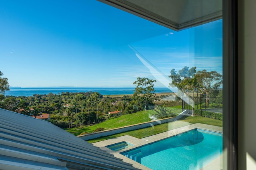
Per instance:
[[[0,71],[10,86],[156,79],[128,45],[165,76],[184,66],[222,74],[222,20],[176,32],[96,0],[0,1]]]

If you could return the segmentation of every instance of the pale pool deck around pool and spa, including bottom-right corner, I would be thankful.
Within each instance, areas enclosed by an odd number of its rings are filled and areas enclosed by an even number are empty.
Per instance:
[[[105,150],[106,152],[110,153],[110,154],[114,154],[115,157],[117,158],[121,158],[123,159],[124,162],[130,163],[132,164],[134,167],[139,168],[139,169],[143,169],[143,170],[151,170],[150,168],[134,161],[131,160],[130,158],[127,158],[126,156],[120,154],[120,152],[124,152],[126,150],[130,150],[130,149],[134,149],[136,147],[140,147],[142,145],[146,145],[148,143],[152,143],[152,142],[156,142],[162,139],[165,139],[167,137],[172,137],[175,136],[177,134],[180,133],[184,133],[186,131],[190,131],[192,129],[206,129],[206,130],[211,130],[211,131],[216,131],[216,132],[221,132],[222,133],[222,127],[218,127],[218,126],[212,126],[212,125],[206,125],[206,124],[202,124],[202,123],[195,123],[195,124],[190,124],[187,122],[182,122],[182,121],[175,121],[172,123],[168,124],[169,129],[172,129],[170,131],[166,131],[163,133],[159,133],[156,135],[152,135],[149,137],[145,137],[142,139],[138,139],[135,137],[131,137],[129,135],[125,135],[125,136],[121,136],[121,137],[116,137],[113,139],[108,139],[105,141],[100,141],[100,142],[96,142],[93,143],[94,146],[99,147],[102,150]],[[174,129],[174,127],[178,127],[176,129]],[[134,146],[131,146],[129,148],[126,149],[122,149],[122,150],[118,150],[118,151],[113,151],[111,149],[108,149],[106,146],[108,145],[112,145],[118,142],[122,142],[122,141],[126,141],[128,143],[133,144]],[[201,170],[221,170],[222,169],[222,158],[221,156],[219,158],[217,158],[216,160],[212,161],[210,164],[204,166]]]

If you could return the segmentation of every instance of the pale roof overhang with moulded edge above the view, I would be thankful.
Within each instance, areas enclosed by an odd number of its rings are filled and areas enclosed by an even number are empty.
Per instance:
[[[99,0],[175,31],[222,18],[222,0]]]

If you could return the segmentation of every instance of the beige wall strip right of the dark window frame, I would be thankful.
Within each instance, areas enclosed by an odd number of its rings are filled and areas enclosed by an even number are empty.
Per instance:
[[[256,0],[238,0],[238,169],[256,170]]]

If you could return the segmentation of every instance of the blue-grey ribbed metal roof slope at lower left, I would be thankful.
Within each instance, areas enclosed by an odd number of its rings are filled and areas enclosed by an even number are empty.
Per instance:
[[[1,169],[137,170],[50,122],[0,109]]]

